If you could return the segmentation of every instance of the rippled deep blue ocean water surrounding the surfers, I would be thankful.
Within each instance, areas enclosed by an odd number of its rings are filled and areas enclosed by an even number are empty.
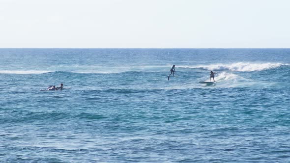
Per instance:
[[[289,92],[290,49],[0,49],[0,162],[290,162]]]

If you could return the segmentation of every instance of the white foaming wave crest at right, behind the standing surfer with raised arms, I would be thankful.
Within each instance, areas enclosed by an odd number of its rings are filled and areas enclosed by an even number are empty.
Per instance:
[[[240,71],[240,72],[247,72],[247,71],[262,71],[267,69],[272,69],[280,66],[289,66],[289,64],[283,63],[231,63],[231,64],[210,64],[210,65],[198,65],[198,66],[179,66],[181,68],[193,68],[193,69],[203,69],[203,70],[214,70],[214,71]]]

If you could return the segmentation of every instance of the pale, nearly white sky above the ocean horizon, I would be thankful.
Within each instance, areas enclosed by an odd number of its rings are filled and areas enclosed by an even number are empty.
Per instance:
[[[1,48],[290,48],[290,0],[0,0]]]

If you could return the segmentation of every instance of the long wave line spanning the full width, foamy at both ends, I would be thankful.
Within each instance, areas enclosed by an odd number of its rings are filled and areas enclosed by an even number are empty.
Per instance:
[[[181,69],[201,69],[208,71],[232,71],[232,72],[251,72],[251,71],[263,71],[281,66],[289,66],[289,64],[283,63],[220,63],[210,65],[196,65],[196,66],[176,66]],[[44,74],[49,72],[57,72],[60,70],[63,72],[81,73],[81,74],[117,74],[124,72],[167,72],[170,65],[163,66],[131,66],[131,67],[107,67],[107,66],[59,66],[51,70],[0,70],[0,74]]]

